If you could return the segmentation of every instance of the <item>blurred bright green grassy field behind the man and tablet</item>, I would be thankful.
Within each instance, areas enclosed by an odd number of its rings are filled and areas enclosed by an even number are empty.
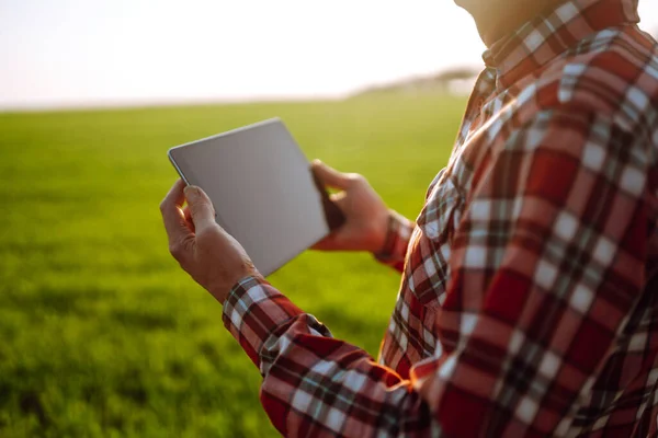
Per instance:
[[[222,308],[170,257],[167,149],[280,116],[309,158],[416,217],[463,99],[0,114],[0,437],[276,436]],[[399,276],[366,254],[299,256],[271,281],[376,355]]]

